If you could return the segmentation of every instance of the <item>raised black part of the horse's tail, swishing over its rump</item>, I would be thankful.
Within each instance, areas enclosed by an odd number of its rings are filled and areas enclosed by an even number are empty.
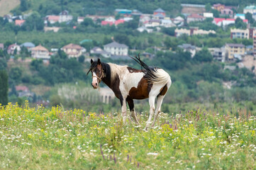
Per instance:
[[[145,74],[145,78],[148,79],[148,81],[153,82],[157,80],[157,77],[155,76],[155,72],[157,72],[157,68],[155,67],[149,67],[145,62],[140,60],[140,54],[137,56],[131,57],[135,62],[138,62],[141,67],[141,71]]]

